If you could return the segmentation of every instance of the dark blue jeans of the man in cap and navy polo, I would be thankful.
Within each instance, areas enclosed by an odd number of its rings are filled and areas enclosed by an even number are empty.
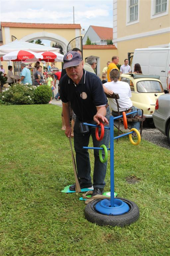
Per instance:
[[[107,107],[106,118],[109,121],[110,118],[110,108]],[[96,124],[93,120],[87,121],[90,124]],[[79,128],[80,120],[76,117],[74,124],[74,149],[76,152],[76,164],[77,164],[77,172],[78,177],[83,183],[91,183],[91,167],[90,167],[90,158],[88,149],[83,149],[84,147],[88,147],[90,135],[93,140],[93,147],[100,147],[102,144],[109,147],[110,140],[110,130],[105,129],[104,137],[101,141],[97,141],[95,131],[96,127],[89,126],[89,133],[81,134]],[[105,124],[105,126],[108,126]],[[99,136],[101,129],[99,128]],[[91,149],[89,149],[91,150]],[[102,156],[104,158],[104,150],[102,150]],[[101,163],[99,159],[99,150],[94,149],[94,173],[93,173],[93,187],[104,188],[105,186],[105,176],[107,169],[107,162]]]

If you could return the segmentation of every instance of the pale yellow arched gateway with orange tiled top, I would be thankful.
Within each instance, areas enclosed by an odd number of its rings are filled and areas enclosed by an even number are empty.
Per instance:
[[[64,54],[70,40],[81,35],[80,24],[1,22],[1,28],[3,44],[10,43],[12,36],[27,42],[46,39],[60,44]]]

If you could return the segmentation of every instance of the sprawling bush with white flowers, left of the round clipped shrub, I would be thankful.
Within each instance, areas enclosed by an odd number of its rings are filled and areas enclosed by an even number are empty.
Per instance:
[[[5,105],[34,104],[34,90],[31,84],[16,83],[5,88],[0,94],[0,103]]]

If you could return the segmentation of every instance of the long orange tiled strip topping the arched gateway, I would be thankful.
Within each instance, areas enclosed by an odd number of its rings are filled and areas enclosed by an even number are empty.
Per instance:
[[[47,23],[17,23],[1,22],[1,27],[20,27],[20,28],[81,28],[80,24],[47,24]]]

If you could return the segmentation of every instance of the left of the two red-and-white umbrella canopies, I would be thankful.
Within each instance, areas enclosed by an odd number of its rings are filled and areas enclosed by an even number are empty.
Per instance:
[[[35,53],[32,51],[17,50],[4,55],[2,57],[2,60],[25,61],[34,58],[42,58],[42,55],[40,53]]]

